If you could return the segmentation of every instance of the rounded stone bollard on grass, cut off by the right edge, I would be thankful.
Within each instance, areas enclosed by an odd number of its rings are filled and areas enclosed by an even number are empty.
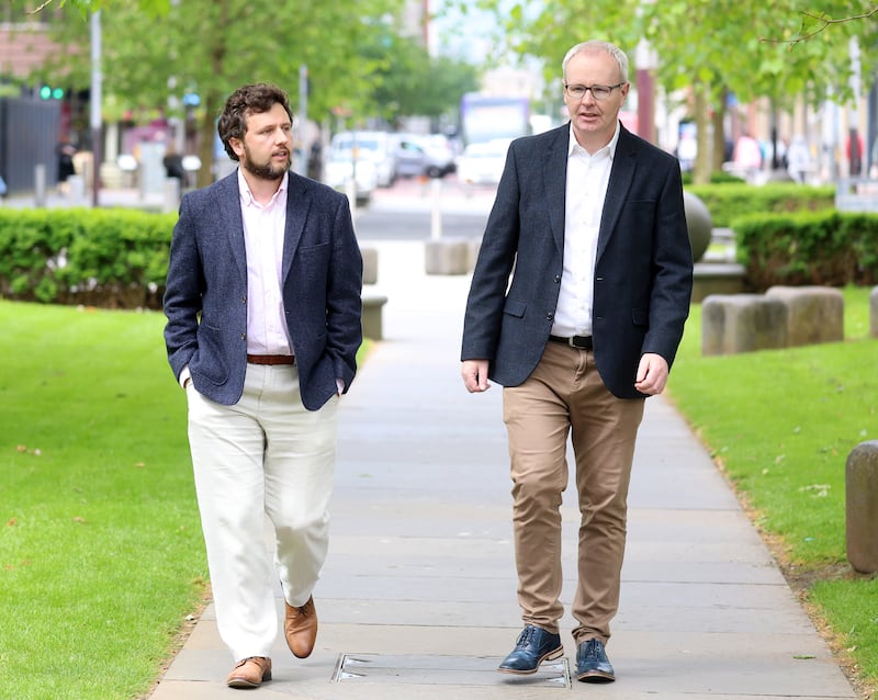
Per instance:
[[[847,561],[863,574],[878,572],[878,440],[860,442],[845,465]]]

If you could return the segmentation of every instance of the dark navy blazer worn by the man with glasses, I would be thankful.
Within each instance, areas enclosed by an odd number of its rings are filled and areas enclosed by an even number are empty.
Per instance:
[[[530,376],[552,329],[569,136],[566,124],[513,142],[473,271],[461,359],[488,360],[488,377],[505,386]],[[691,285],[679,163],[622,126],[600,217],[592,319],[595,363],[616,396],[643,396],[634,388],[643,353],[673,364]]]

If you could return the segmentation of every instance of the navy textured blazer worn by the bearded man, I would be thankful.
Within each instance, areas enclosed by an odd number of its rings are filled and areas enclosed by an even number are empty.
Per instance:
[[[290,172],[282,295],[302,403],[316,410],[350,387],[362,342],[362,257],[348,197]],[[165,342],[176,377],[236,404],[247,369],[247,260],[238,173],[187,193],[173,228]]]

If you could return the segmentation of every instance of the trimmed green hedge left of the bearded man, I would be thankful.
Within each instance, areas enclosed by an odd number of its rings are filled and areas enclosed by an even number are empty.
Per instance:
[[[161,308],[177,214],[0,208],[0,296]]]

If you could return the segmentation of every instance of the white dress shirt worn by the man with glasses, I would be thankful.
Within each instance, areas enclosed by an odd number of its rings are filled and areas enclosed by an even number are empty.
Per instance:
[[[564,262],[552,324],[553,336],[570,338],[592,335],[597,236],[618,142],[617,123],[610,143],[592,155],[576,142],[571,126],[564,206]]]

